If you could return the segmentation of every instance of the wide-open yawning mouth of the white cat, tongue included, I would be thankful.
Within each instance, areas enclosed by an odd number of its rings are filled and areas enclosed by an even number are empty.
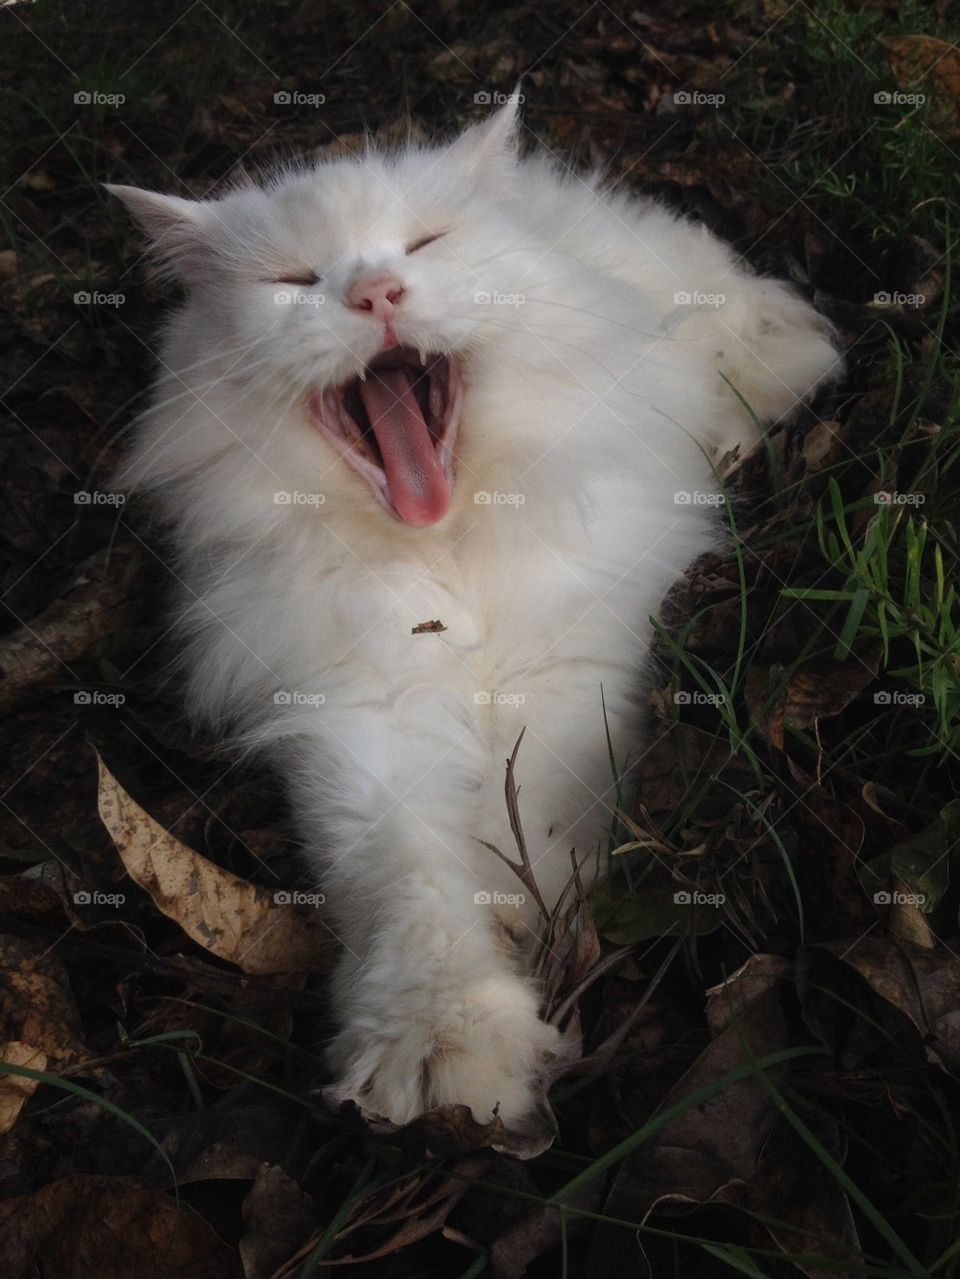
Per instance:
[[[463,382],[456,356],[394,347],[362,377],[311,396],[317,430],[408,524],[435,524],[450,506]]]

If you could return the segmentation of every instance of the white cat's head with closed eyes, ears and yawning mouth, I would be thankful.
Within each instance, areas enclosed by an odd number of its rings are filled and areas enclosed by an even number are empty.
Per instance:
[[[207,340],[302,405],[345,482],[427,526],[451,500],[464,365],[515,316],[488,304],[516,279],[515,133],[507,105],[445,146],[300,165],[217,198],[109,189]]]

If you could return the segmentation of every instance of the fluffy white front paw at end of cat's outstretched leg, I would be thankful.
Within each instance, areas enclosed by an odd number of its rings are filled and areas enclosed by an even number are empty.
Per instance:
[[[496,975],[456,990],[424,987],[398,996],[389,1010],[344,1012],[346,1023],[330,1048],[331,1100],[352,1100],[364,1115],[394,1124],[455,1102],[479,1122],[499,1115],[507,1133],[546,1132],[552,1122],[546,1086],[564,1048],[522,978]]]

